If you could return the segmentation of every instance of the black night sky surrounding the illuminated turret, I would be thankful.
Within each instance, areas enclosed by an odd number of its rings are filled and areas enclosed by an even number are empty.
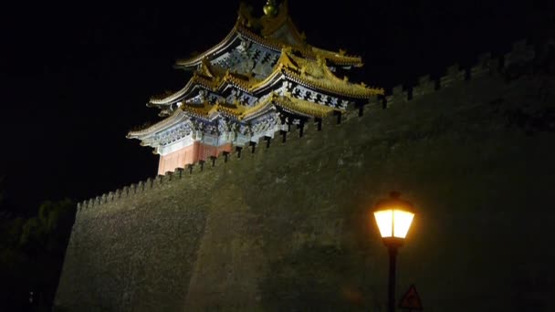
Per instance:
[[[261,14],[264,2],[247,3]],[[386,89],[487,51],[498,56],[522,38],[537,42],[553,25],[547,1],[333,3],[290,0],[289,13],[309,44],[363,57],[351,81]],[[174,60],[223,39],[238,5],[3,5],[0,176],[12,209],[81,201],[154,176],[158,156],[125,135],[158,120],[148,99],[190,77]]]

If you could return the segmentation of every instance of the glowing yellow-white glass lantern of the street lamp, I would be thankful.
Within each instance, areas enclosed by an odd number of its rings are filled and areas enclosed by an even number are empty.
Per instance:
[[[413,223],[414,213],[400,209],[385,209],[374,213],[382,237],[406,237]]]

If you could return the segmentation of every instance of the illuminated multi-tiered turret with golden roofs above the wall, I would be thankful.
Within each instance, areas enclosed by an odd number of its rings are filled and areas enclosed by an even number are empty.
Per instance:
[[[236,25],[219,44],[176,62],[193,71],[188,83],[147,103],[165,119],[128,138],[160,154],[159,174],[383,95],[382,88],[337,77],[338,70],[360,68],[361,57],[306,43],[287,1],[268,1],[264,13],[254,17],[241,5]]]

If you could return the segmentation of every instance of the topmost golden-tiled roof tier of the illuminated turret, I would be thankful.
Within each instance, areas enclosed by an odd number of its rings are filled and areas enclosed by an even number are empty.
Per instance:
[[[282,34],[279,30],[287,28],[290,37]],[[262,16],[255,18],[250,15],[250,9],[246,5],[241,5],[236,25],[225,36],[225,38],[210,47],[203,53],[187,58],[178,59],[175,63],[176,68],[193,68],[198,66],[204,58],[213,57],[224,52],[228,47],[234,46],[236,40],[241,38],[266,47],[275,52],[281,51],[282,47],[293,47],[298,50],[304,57],[316,59],[324,57],[330,63],[337,66],[345,67],[361,67],[362,59],[359,56],[350,56],[344,50],[338,52],[330,51],[318,47],[312,47],[304,42],[304,36],[299,34],[297,27],[291,21],[288,15],[287,1],[280,5],[277,16]]]

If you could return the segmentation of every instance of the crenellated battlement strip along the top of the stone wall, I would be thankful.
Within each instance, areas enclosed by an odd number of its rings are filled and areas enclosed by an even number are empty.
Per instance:
[[[368,104],[360,107],[350,107],[347,111],[335,112],[322,119],[314,119],[302,125],[289,125],[288,130],[279,130],[274,137],[263,137],[258,141],[251,141],[248,146],[236,147],[233,152],[220,152],[217,157],[211,157],[210,161],[200,161],[187,165],[186,168],[175,168],[174,172],[166,172],[145,181],[123,186],[122,188],[101,194],[97,197],[78,203],[78,217],[83,211],[93,209],[103,203],[111,203],[121,198],[133,196],[137,193],[149,192],[152,189],[161,188],[164,185],[187,182],[194,183],[194,176],[199,174],[211,174],[218,170],[224,170],[225,165],[234,161],[250,161],[256,157],[272,152],[277,146],[290,144],[303,138],[318,135],[320,132],[335,130],[347,120],[362,118],[364,110],[369,107],[391,109],[397,106],[409,105],[415,100],[422,99],[433,93],[446,89],[456,88],[471,80],[486,77],[497,77],[511,79],[520,75],[533,72],[535,67],[537,50],[527,45],[526,40],[513,44],[510,52],[492,57],[491,53],[485,53],[477,57],[477,62],[471,67],[461,68],[454,64],[445,69],[445,75],[439,78],[431,78],[425,75],[418,78],[418,84],[396,85],[385,96],[376,96]],[[325,134],[324,134],[325,135]]]

